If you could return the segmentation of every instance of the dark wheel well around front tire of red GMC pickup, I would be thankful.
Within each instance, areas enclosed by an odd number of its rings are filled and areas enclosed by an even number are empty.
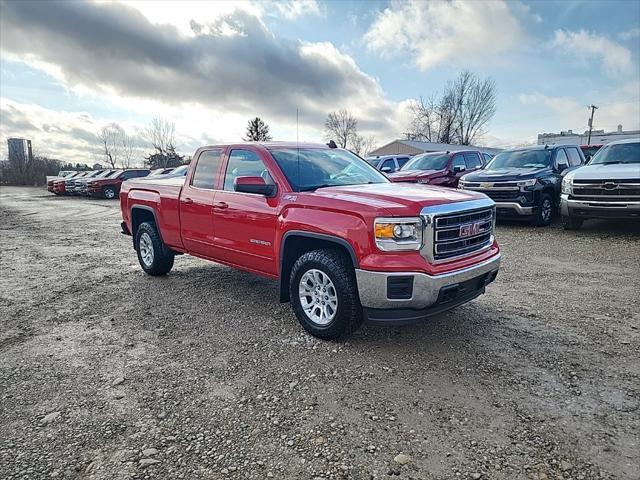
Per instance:
[[[358,268],[358,257],[353,246],[344,238],[323,233],[290,230],[282,237],[280,247],[280,302],[288,302],[291,268],[301,255],[312,250],[331,248],[345,253],[353,268]]]

